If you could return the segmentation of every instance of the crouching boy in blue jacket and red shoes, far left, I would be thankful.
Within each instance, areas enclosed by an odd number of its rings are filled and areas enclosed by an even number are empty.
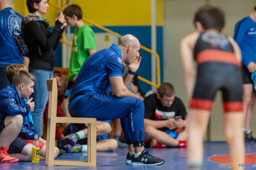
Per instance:
[[[31,160],[32,144],[17,137],[23,123],[22,116],[34,110],[34,102],[29,99],[24,104],[21,98],[33,93],[35,78],[26,71],[20,71],[13,78],[13,84],[0,91],[0,162]],[[9,154],[16,153],[12,158]],[[20,154],[21,153],[21,154]]]

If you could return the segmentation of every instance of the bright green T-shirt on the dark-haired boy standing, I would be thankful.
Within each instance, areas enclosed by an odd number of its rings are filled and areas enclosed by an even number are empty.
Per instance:
[[[92,28],[86,24],[76,29],[72,40],[72,51],[69,65],[69,80],[80,71],[84,61],[89,56],[88,49],[96,49],[95,36]]]

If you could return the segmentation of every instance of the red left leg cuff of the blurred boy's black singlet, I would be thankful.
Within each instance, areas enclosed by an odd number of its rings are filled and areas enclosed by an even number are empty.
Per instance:
[[[213,104],[214,102],[212,100],[192,98],[190,109],[211,110]]]

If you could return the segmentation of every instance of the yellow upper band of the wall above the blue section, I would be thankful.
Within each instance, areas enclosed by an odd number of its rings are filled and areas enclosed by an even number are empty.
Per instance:
[[[57,0],[50,1],[57,4]],[[73,0],[72,3],[80,5],[83,17],[102,26],[148,26],[151,24],[150,0]],[[26,0],[14,0],[14,10],[23,16],[28,15]],[[58,17],[57,10],[50,6],[48,13],[43,17],[50,21],[51,26],[54,26],[54,20]],[[163,0],[156,0],[156,17],[157,25],[163,26]]]

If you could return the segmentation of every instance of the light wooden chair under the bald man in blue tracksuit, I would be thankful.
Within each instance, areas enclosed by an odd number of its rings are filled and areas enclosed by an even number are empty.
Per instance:
[[[45,164],[48,166],[96,166],[96,118],[57,117],[58,89],[56,78],[47,80],[47,90],[49,91],[49,104]],[[56,123],[88,123],[87,161],[54,160]]]

